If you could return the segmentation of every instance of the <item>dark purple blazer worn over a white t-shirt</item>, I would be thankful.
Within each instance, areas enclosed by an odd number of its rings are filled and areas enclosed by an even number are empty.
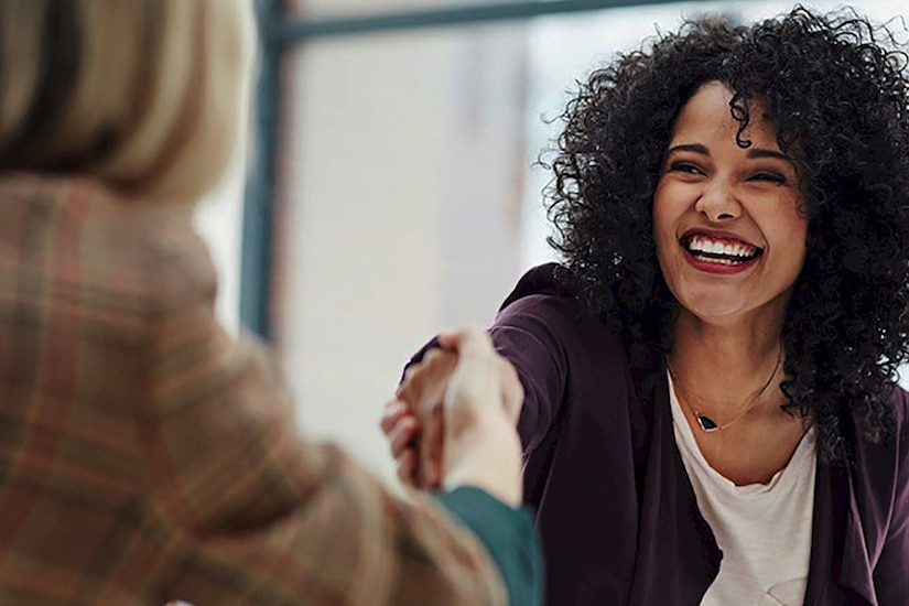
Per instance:
[[[619,339],[553,268],[528,272],[490,331],[527,392],[547,604],[700,604],[723,554],[675,446],[665,370],[632,377]],[[807,605],[909,605],[909,394],[892,401],[892,439],[855,437],[853,463],[818,463]]]

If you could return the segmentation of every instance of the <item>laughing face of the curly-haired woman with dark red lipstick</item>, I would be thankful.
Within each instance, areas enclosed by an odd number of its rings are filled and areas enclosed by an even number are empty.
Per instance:
[[[679,112],[653,196],[657,256],[700,320],[781,321],[804,261],[804,196],[759,102],[742,134],[751,145],[736,143],[732,96],[708,83]]]

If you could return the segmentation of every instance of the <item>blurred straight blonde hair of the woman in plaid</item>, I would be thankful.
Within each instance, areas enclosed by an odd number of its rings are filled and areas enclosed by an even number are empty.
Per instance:
[[[234,152],[244,0],[0,0],[0,171],[195,199]]]

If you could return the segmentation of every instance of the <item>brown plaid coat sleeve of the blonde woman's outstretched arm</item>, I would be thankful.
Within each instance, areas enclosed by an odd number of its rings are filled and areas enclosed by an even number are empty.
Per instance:
[[[162,279],[163,293],[174,280]],[[214,293],[187,283],[151,331],[139,434],[171,554],[161,597],[505,604],[487,552],[442,508],[397,500],[338,448],[297,436],[262,348],[227,335]]]

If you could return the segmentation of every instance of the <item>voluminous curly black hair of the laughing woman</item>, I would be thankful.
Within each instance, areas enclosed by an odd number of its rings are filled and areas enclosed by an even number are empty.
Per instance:
[[[783,409],[813,415],[830,458],[892,426],[909,353],[909,82],[892,33],[854,10],[802,7],[750,26],[686,22],[580,83],[551,165],[550,244],[582,301],[621,335],[632,367],[671,349],[674,300],[657,262],[652,198],[674,118],[707,82],[749,121],[760,99],[796,163],[809,219],[783,326]]]

